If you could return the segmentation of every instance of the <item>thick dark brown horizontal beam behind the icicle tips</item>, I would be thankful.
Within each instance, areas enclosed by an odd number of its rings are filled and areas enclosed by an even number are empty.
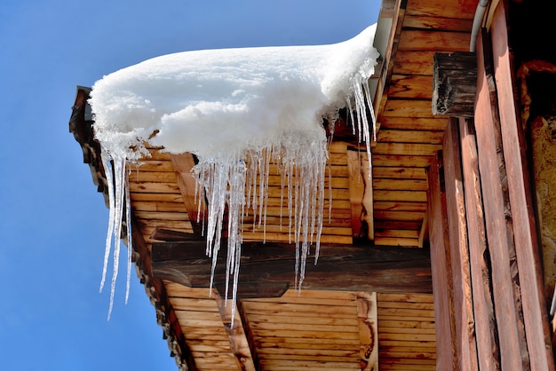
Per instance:
[[[154,243],[155,277],[188,287],[208,288],[211,259],[205,256],[205,245],[195,237]],[[226,279],[223,255],[218,257],[214,272],[216,288]],[[238,297],[281,296],[286,288],[293,287],[295,256],[291,244],[243,243]],[[429,253],[426,249],[322,244],[318,264],[306,265],[303,288],[430,293]]]

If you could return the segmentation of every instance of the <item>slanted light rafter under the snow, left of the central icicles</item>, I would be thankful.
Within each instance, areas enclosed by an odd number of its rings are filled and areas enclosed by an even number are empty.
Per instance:
[[[193,154],[171,154],[171,164],[176,172],[179,192],[184,199],[193,231],[197,236],[203,233],[203,221],[207,218],[207,208],[203,197],[195,197],[195,178],[191,170],[195,166]],[[201,205],[199,205],[201,201]]]

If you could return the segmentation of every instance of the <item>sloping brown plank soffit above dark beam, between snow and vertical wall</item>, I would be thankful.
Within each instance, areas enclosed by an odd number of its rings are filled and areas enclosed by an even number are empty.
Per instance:
[[[401,2],[400,5],[404,4]],[[442,147],[446,117],[433,116],[433,54],[467,51],[476,2],[409,0],[395,13],[377,91],[380,127],[372,149],[375,243],[422,247],[426,169]]]

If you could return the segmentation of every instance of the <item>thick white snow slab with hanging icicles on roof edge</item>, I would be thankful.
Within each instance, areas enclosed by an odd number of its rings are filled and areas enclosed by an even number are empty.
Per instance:
[[[89,100],[95,136],[103,161],[113,162],[105,169],[115,172],[106,246],[108,255],[114,238],[112,290],[123,209],[129,209],[124,207],[125,163],[137,163],[148,155],[145,143],[199,158],[194,176],[199,195],[209,201],[205,233],[213,264],[227,205],[226,268],[228,278],[234,278],[234,299],[242,215],[246,208],[258,209],[264,221],[269,163],[278,163],[282,185],[288,189],[300,286],[309,246],[316,242],[318,256],[322,231],[328,158],[322,119],[333,122],[338,109],[354,107],[354,130],[361,141],[370,142],[367,109],[372,113],[372,107],[365,102],[371,101],[368,80],[378,57],[372,47],[375,30],[373,25],[353,39],[330,45],[179,52],[123,68],[95,83]],[[257,172],[262,176],[258,178]],[[111,305],[112,301],[113,292]]]

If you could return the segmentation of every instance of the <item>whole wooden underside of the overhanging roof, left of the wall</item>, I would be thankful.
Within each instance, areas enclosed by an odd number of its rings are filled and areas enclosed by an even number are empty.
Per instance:
[[[195,255],[204,245],[189,174],[194,158],[149,149],[151,156],[130,176],[134,261],[179,367],[364,369],[372,343],[380,369],[435,369],[426,174],[441,150],[448,119],[432,114],[433,54],[468,51],[476,4],[383,2],[379,30],[386,32],[377,41],[383,42],[383,60],[374,102],[379,131],[372,146],[372,192],[366,186],[364,151],[338,130],[326,178],[332,190],[332,198],[327,195],[330,223],[322,231],[330,260],[322,253],[322,267],[307,267],[299,293],[292,288],[294,265],[287,261],[293,252],[287,222],[281,225],[280,179],[271,177],[266,231],[252,223],[252,216],[245,219],[243,239],[262,258],[242,262],[234,328],[218,277],[209,296],[210,270],[206,259]],[[106,193],[88,94],[78,88],[70,130],[99,192]],[[343,124],[338,122],[338,128]],[[268,243],[262,245],[263,240]],[[287,252],[277,257],[276,249]],[[182,260],[169,263],[168,254],[175,257],[177,250]],[[342,254],[336,260],[335,251]],[[261,275],[266,271],[258,264],[269,260],[272,266],[287,261],[290,272],[276,267]],[[178,268],[168,265],[176,261]]]

